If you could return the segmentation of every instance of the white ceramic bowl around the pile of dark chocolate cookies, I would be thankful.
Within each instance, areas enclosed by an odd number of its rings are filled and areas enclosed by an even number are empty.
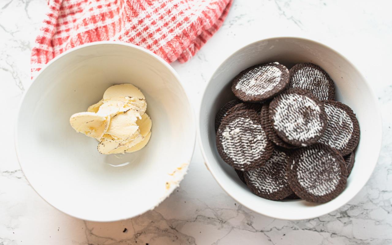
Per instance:
[[[260,198],[247,189],[216,150],[214,119],[220,107],[234,98],[230,90],[234,76],[252,65],[276,61],[287,65],[289,69],[301,62],[320,65],[336,84],[336,99],[350,106],[359,120],[361,139],[347,187],[328,203],[316,205],[302,200],[270,201]],[[338,209],[365,185],[376,165],[381,147],[381,116],[370,86],[341,54],[311,40],[270,38],[236,51],[212,75],[201,100],[199,137],[207,167],[232,198],[260,214],[285,220],[302,220]]]

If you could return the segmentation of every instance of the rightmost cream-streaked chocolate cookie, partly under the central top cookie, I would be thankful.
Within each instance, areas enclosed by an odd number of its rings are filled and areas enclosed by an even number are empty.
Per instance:
[[[341,102],[334,100],[323,102],[327,114],[327,128],[318,142],[329,145],[345,156],[354,151],[358,145],[358,119],[352,109]]]

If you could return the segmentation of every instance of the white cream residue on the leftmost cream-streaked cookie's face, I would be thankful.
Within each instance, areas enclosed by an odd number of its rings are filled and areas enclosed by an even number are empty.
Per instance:
[[[223,129],[222,136],[223,151],[238,165],[261,158],[267,145],[267,136],[261,125],[250,118],[236,118]]]

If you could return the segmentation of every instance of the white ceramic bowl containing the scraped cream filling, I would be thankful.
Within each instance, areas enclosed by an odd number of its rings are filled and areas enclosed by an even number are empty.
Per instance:
[[[151,139],[140,151],[103,155],[69,117],[118,83],[132,83],[145,95]],[[15,128],[18,159],[35,191],[60,211],[92,221],[156,207],[186,174],[195,137],[194,113],[174,69],[119,42],[83,45],[49,62],[25,93]]]

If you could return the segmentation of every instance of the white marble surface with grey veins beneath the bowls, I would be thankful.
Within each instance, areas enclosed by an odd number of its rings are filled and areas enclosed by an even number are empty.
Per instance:
[[[197,146],[189,174],[167,200],[140,217],[111,223],[78,220],[51,207],[29,186],[16,159],[14,118],[31,83],[29,56],[45,2],[0,0],[0,245],[392,244],[390,1],[236,0],[223,27],[201,51],[186,64],[172,64],[197,111],[216,67],[254,40],[302,36],[349,58],[379,98],[383,147],[371,179],[347,205],[304,221],[256,214],[222,191]]]

